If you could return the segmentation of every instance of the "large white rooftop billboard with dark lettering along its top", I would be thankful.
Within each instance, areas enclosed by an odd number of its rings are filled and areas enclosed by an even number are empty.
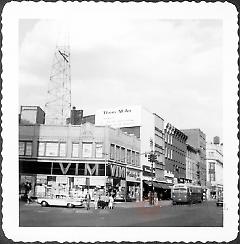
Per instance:
[[[114,128],[141,125],[141,106],[121,106],[96,111],[95,124]]]

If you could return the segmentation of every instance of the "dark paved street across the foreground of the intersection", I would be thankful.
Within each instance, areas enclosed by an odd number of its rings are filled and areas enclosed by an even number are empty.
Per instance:
[[[221,227],[222,224],[223,209],[215,202],[172,206],[170,201],[162,201],[155,207],[147,203],[118,203],[112,210],[91,208],[89,211],[20,203],[20,226]]]

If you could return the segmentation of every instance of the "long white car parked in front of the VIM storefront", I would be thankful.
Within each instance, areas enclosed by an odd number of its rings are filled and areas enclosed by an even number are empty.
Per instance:
[[[62,206],[73,208],[75,206],[83,206],[83,199],[74,199],[69,197],[63,198],[38,198],[37,203],[41,204],[42,207],[47,206]]]

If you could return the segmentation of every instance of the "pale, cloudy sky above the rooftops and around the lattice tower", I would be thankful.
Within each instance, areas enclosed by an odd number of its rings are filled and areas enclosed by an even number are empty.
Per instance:
[[[19,21],[19,106],[44,109],[57,44],[69,35],[72,106],[142,105],[178,129],[222,137],[222,22],[92,18]]]

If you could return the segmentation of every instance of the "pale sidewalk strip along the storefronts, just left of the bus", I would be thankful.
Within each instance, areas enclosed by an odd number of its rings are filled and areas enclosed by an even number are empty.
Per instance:
[[[157,205],[150,205],[148,201],[143,202],[114,202],[115,207],[117,208],[139,208],[139,207],[163,207],[172,205],[172,200],[161,200],[158,201]]]

